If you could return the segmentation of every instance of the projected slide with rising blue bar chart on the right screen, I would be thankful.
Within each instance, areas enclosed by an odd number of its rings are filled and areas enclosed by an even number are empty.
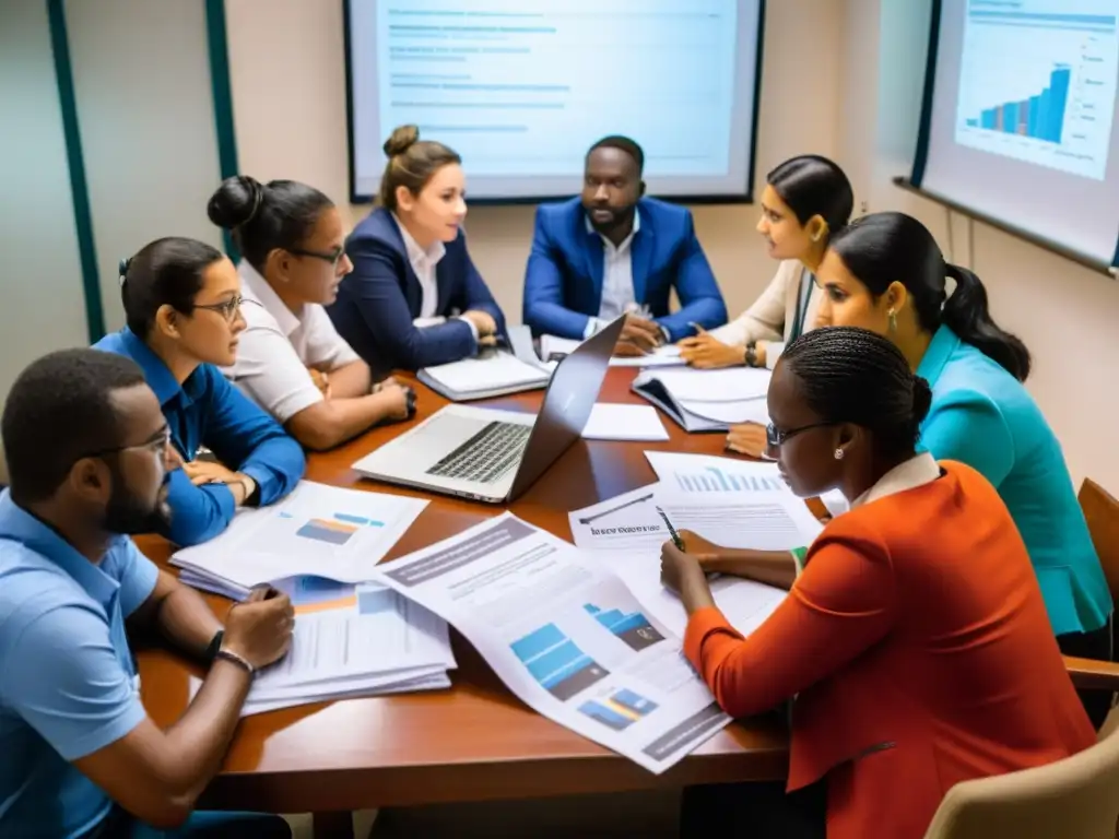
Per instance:
[[[1107,0],[968,0],[956,142],[1102,180],[1119,35]]]

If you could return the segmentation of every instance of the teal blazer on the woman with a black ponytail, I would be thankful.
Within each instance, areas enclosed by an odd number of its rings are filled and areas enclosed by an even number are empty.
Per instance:
[[[1061,444],[1014,376],[948,327],[916,370],[932,387],[922,447],[981,472],[1018,526],[1053,632],[1091,632],[1111,613],[1111,595],[1076,501]]]

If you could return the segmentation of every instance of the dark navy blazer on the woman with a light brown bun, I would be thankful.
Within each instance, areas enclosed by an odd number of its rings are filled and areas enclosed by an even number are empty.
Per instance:
[[[354,271],[338,287],[338,300],[327,308],[339,334],[378,373],[458,361],[478,351],[470,326],[448,320],[417,329],[423,291],[408,261],[404,237],[392,214],[378,207],[350,234],[346,253]],[[449,318],[471,309],[488,312],[505,334],[505,317],[470,261],[467,238],[459,230],[435,267],[439,304],[435,314]]]

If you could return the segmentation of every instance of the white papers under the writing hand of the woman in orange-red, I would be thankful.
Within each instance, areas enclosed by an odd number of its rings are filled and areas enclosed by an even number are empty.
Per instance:
[[[727,548],[791,549],[810,544],[821,529],[787,490],[712,498],[657,483],[570,513],[575,545],[593,552],[677,635],[687,628],[687,613],[660,582],[660,550],[671,535],[658,507],[677,531],[692,530]],[[711,587],[716,605],[743,634],[758,629],[786,597],[780,588],[731,576],[713,579]]]

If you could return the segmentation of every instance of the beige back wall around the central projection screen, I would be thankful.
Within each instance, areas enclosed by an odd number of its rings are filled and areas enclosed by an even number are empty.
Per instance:
[[[772,0],[768,6],[759,182],[793,154],[835,153],[843,104],[837,32],[844,3]],[[344,202],[349,190],[341,0],[226,0],[226,23],[242,171],[257,179],[304,180]],[[469,160],[466,169],[469,178]],[[579,183],[571,188],[576,191]],[[754,234],[758,209],[694,210],[727,305],[741,311],[774,270]],[[351,218],[368,211],[352,207]],[[520,318],[533,213],[532,207],[476,207],[467,219],[474,262],[514,321]]]

